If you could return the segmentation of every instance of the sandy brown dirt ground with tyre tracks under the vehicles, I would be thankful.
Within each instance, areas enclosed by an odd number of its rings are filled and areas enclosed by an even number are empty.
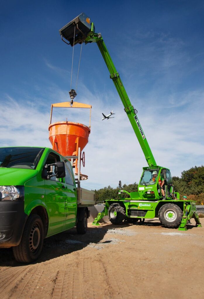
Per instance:
[[[40,259],[19,264],[0,249],[0,298],[203,298],[204,219],[188,231],[144,224],[72,229],[44,241]]]

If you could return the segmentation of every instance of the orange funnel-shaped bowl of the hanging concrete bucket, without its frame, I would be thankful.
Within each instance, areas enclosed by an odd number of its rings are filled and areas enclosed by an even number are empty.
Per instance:
[[[82,123],[58,121],[48,129],[52,148],[64,157],[77,155],[78,148],[82,151],[89,141],[90,128]]]

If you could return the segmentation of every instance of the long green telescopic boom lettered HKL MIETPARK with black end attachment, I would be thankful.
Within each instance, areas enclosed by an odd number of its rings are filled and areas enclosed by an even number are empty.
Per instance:
[[[147,164],[149,166],[156,166],[156,161],[153,157],[152,151],[149,147],[143,129],[136,115],[137,111],[136,109],[134,109],[133,105],[130,102],[130,99],[119,76],[119,73],[117,72],[115,65],[113,64],[110,54],[103,41],[101,33],[95,33],[95,27],[94,24],[91,22],[90,18],[87,17],[84,13],[81,13],[74,20],[72,20],[60,29],[60,35],[62,40],[66,42],[64,40],[66,39],[68,41],[68,43],[66,43],[70,44],[71,46],[76,45],[77,43],[81,44],[82,42],[85,42],[86,44],[90,42],[97,43],[98,48],[101,51],[103,59],[110,72],[110,78],[113,80],[115,88],[117,89],[121,101],[124,105],[124,111],[127,113],[127,116],[137,136],[141,149],[144,153],[145,159],[147,160]]]

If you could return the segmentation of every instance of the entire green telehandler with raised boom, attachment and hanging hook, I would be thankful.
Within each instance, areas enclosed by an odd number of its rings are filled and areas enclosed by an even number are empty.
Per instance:
[[[201,226],[196,203],[186,198],[180,199],[179,193],[173,190],[170,170],[157,165],[138,120],[137,110],[130,102],[101,33],[95,33],[94,23],[85,13],[81,13],[59,31],[63,42],[72,47],[76,44],[91,42],[98,45],[148,164],[148,167],[143,167],[138,191],[129,193],[122,190],[121,182],[119,182],[120,199],[106,200],[104,210],[98,214],[92,224],[99,225],[98,222],[103,216],[108,215],[112,224],[116,225],[123,223],[124,220],[134,223],[138,220],[144,221],[144,219],[159,217],[162,225],[167,228],[179,227],[179,230],[187,230],[186,224],[191,218],[195,219],[196,226]],[[75,90],[71,89],[69,94],[73,103],[76,96]],[[121,193],[127,193],[128,198],[122,198]]]

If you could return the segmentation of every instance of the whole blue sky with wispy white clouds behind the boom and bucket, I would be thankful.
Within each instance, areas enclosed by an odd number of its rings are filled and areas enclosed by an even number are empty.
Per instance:
[[[102,33],[156,162],[177,176],[203,164],[203,1],[1,1],[0,146],[50,146],[51,103],[70,90],[72,48],[59,29],[81,12]],[[146,160],[96,44],[83,45],[77,93],[93,107],[84,187],[138,182]],[[55,121],[66,118],[89,120],[55,111]]]

